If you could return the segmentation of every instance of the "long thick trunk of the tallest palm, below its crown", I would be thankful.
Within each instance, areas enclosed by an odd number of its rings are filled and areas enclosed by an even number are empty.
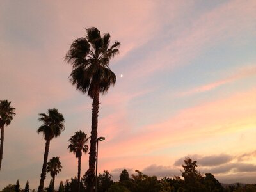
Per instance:
[[[96,161],[96,140],[97,140],[97,127],[98,127],[98,113],[99,113],[99,90],[95,92],[92,104],[92,130],[90,140],[90,152],[89,152],[89,170],[88,175],[88,188],[90,192],[93,192],[95,184],[95,161]]]

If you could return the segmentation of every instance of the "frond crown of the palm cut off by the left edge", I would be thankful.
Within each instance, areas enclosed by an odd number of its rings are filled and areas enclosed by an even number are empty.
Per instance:
[[[8,100],[0,100],[0,129],[4,125],[8,126],[13,120],[15,108],[11,106]]]

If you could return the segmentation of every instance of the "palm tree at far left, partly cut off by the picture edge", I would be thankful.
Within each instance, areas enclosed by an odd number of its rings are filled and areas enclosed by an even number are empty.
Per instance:
[[[0,129],[1,129],[1,143],[0,143],[0,170],[3,159],[3,148],[4,148],[4,125],[8,126],[13,120],[15,108],[11,106],[11,102],[8,100],[0,100]]]

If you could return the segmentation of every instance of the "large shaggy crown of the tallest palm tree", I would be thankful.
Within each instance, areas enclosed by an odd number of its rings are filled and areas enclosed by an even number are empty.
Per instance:
[[[78,38],[72,43],[65,60],[72,65],[70,82],[91,98],[96,92],[104,93],[116,82],[115,74],[109,68],[109,61],[118,52],[120,42],[111,47],[110,35],[100,35],[97,28],[86,29],[86,38]]]

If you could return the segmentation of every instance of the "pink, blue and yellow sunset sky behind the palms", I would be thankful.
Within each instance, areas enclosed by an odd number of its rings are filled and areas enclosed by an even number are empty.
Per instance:
[[[99,172],[172,177],[189,156],[220,182],[255,183],[255,18],[255,0],[1,1],[0,100],[17,115],[4,132],[0,189],[17,179],[38,188],[38,113],[49,108],[65,118],[48,157],[63,166],[56,188],[77,175],[68,139],[80,129],[90,135],[92,99],[68,81],[64,57],[92,26],[121,42],[109,65],[116,85],[100,95]]]

